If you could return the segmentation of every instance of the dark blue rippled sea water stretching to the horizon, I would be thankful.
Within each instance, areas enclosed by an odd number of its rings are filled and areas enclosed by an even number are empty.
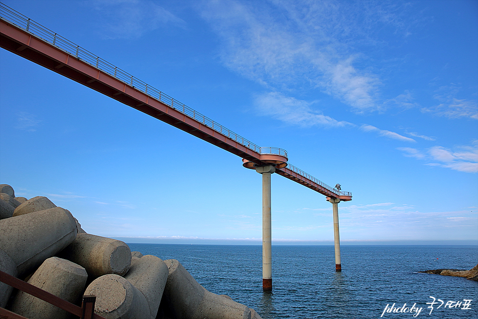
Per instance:
[[[261,246],[128,245],[143,255],[177,259],[204,288],[263,319],[478,318],[477,282],[418,273],[471,269],[478,246],[342,245],[341,273],[335,272],[333,246],[272,246],[273,290],[263,292]],[[387,305],[408,312],[383,313]]]

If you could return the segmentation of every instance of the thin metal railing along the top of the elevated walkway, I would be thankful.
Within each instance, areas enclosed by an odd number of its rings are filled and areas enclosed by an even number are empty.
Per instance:
[[[138,78],[132,76],[131,74],[121,70],[119,67],[103,60],[99,56],[91,53],[90,51],[82,48],[81,46],[71,42],[68,39],[65,39],[61,35],[51,31],[50,29],[44,27],[43,25],[33,21],[32,19],[24,16],[23,14],[13,10],[12,8],[8,7],[7,5],[0,2],[0,18],[17,25],[18,27],[28,31],[32,35],[35,35],[46,42],[58,47],[59,49],[67,52],[68,54],[74,55],[76,58],[83,60],[86,63],[114,76],[115,78],[119,79],[120,81],[124,82],[126,85],[130,85],[131,87],[139,90],[146,95],[158,100],[161,103],[166,104],[167,106],[181,112],[182,114],[202,123],[203,125],[213,129],[214,131],[221,133],[224,136],[227,136],[229,139],[234,140],[235,142],[239,143],[240,145],[258,153],[258,154],[275,154],[287,157],[287,152],[283,149],[279,148],[272,148],[272,147],[259,147],[256,144],[250,142],[249,140],[243,138],[239,134],[234,133],[233,131],[225,128],[221,124],[211,120],[210,118],[202,115],[201,113],[197,112],[196,110],[191,109],[190,107],[186,106],[185,104],[173,99],[169,95],[159,91],[158,89],[148,85],[147,83],[139,80]],[[351,196],[350,192],[342,192],[334,189],[333,187],[323,183],[322,181],[318,180],[314,176],[309,175],[305,171],[288,164],[292,171],[296,172],[297,174],[308,178],[311,181],[321,185],[324,188],[332,191],[335,194]]]

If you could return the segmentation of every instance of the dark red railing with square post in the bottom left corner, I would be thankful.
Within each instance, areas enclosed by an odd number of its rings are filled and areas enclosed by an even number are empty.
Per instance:
[[[66,300],[63,300],[53,294],[50,294],[49,292],[46,292],[38,287],[28,284],[23,280],[15,278],[1,270],[0,281],[7,284],[8,286],[21,290],[36,298],[46,301],[53,306],[63,309],[70,314],[78,316],[80,319],[105,319],[94,313],[96,301],[95,296],[83,296],[82,307],[78,307],[70,302],[67,302]],[[25,317],[19,316],[6,309],[0,308],[0,319],[25,319]]]

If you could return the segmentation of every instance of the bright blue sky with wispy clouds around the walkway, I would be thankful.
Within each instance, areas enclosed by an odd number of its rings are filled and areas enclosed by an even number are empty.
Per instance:
[[[342,184],[343,244],[477,243],[478,1],[2,1]],[[240,158],[3,49],[0,124],[0,182],[89,233],[260,244]],[[331,244],[332,205],[273,174],[272,238]]]

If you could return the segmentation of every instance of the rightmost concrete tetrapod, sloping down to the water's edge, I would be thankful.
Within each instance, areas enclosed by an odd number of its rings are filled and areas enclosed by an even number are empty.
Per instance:
[[[143,257],[144,258],[144,257]],[[250,319],[244,305],[213,294],[201,286],[175,259],[165,260],[169,275],[163,302],[175,319]]]

